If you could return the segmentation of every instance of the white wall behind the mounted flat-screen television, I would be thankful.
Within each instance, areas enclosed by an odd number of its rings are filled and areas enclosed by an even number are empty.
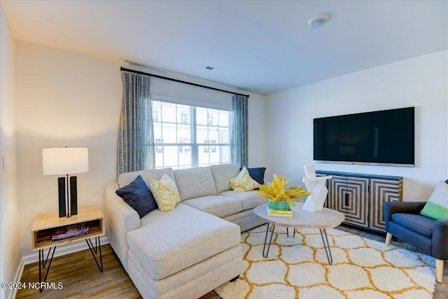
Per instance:
[[[316,169],[404,177],[406,201],[448,179],[448,50],[277,92],[266,100],[267,176],[301,183],[313,162],[313,118],[416,107],[416,167],[316,163]]]

